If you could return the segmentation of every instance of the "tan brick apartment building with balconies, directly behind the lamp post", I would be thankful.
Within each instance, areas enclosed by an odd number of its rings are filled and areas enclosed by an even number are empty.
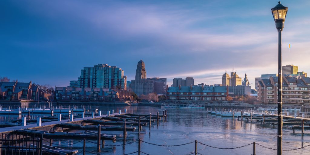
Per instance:
[[[278,77],[258,82],[258,100],[261,103],[277,103]],[[310,78],[282,77],[282,103],[309,104]]]

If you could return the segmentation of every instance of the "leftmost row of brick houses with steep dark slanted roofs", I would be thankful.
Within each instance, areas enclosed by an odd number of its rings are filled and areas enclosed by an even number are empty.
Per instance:
[[[0,100],[53,100],[47,87],[30,82],[0,82]]]

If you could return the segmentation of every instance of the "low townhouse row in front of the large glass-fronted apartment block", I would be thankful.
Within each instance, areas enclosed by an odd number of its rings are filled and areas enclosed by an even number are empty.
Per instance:
[[[56,100],[133,101],[130,91],[111,88],[55,87]]]

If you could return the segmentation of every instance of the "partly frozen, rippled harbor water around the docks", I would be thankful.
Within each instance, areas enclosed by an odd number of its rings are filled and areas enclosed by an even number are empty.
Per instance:
[[[103,114],[106,114],[108,110],[114,109],[114,112],[118,112],[119,109],[130,113],[140,114],[157,114],[159,111],[160,115],[164,108],[160,107],[149,107],[149,106],[120,106],[120,107],[99,107]],[[83,132],[83,131],[73,131]],[[105,134],[117,135],[117,142],[112,143],[106,141],[105,144],[115,145],[123,144],[122,131],[102,131]],[[127,132],[126,143],[138,140],[138,132]],[[234,148],[243,146],[246,144],[255,143],[267,146],[269,148],[277,148],[277,128],[273,129],[270,123],[266,122],[265,125],[253,121],[252,125],[250,122],[245,120],[238,121],[237,118],[234,120],[229,117],[222,118],[221,116],[215,116],[207,113],[206,109],[186,109],[186,108],[167,108],[167,122],[159,125],[153,123],[151,129],[148,126],[144,126],[140,133],[140,139],[146,142],[160,144],[160,145],[177,145],[189,143],[197,140],[201,143],[220,147],[220,148]],[[57,144],[72,144],[78,140],[56,140],[53,143]],[[96,142],[96,141],[93,141]],[[46,142],[48,144],[48,142]],[[283,128],[283,149],[300,148],[310,144],[309,134],[307,131],[305,135],[301,136],[301,131],[296,130],[296,134],[293,134],[289,126]],[[59,148],[78,149],[82,151],[83,143],[69,145],[68,147],[57,146]],[[141,151],[151,155],[186,155],[194,151],[195,143],[178,147],[161,147],[146,144],[141,142]],[[97,145],[87,142],[86,150],[94,151]],[[138,143],[128,144],[125,147],[109,147],[105,146],[101,148],[101,154],[113,154],[121,155],[126,153],[132,153],[138,151]],[[295,151],[283,151],[283,154],[309,154],[310,146]],[[233,154],[233,155],[250,155],[253,153],[253,145],[249,145],[238,149],[216,149],[206,147],[198,144],[198,153],[201,154]],[[276,150],[270,150],[262,148],[256,145],[256,154],[273,155],[276,154]],[[91,153],[86,153],[91,154]],[[135,153],[138,154],[138,153]],[[141,153],[143,154],[143,153]]]

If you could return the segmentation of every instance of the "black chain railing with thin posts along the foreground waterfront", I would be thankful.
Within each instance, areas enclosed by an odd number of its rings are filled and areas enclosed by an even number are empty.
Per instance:
[[[46,141],[46,140],[45,140]],[[89,142],[89,143],[92,143],[92,144],[97,144],[97,141],[90,141],[90,140],[81,140],[81,141],[78,141],[76,143],[73,143],[73,144],[77,144],[77,143],[80,143],[83,141],[83,151],[81,152],[78,152],[77,154],[79,153],[82,153],[83,152],[83,155],[85,155],[85,153],[91,153],[91,154],[96,154],[96,155],[101,155],[100,152],[93,152],[93,151],[87,151],[86,150],[86,141]],[[47,141],[48,142],[48,141]],[[249,144],[246,144],[246,145],[242,145],[242,146],[238,146],[238,147],[233,147],[233,148],[221,148],[221,147],[217,147],[217,146],[211,146],[211,145],[208,145],[208,144],[204,144],[202,142],[199,142],[197,140],[195,141],[192,141],[192,142],[188,142],[188,143],[184,143],[184,144],[176,144],[176,145],[161,145],[161,144],[154,144],[154,143],[150,143],[150,142],[146,142],[146,141],[143,141],[141,139],[139,140],[135,140],[135,141],[132,141],[132,142],[129,142],[129,143],[126,143],[126,144],[118,144],[118,145],[107,145],[107,144],[103,144],[104,146],[111,146],[111,147],[117,147],[117,146],[124,146],[124,145],[128,145],[128,144],[133,144],[133,143],[136,143],[138,142],[138,150],[135,151],[135,152],[132,152],[132,153],[126,153],[126,154],[122,154],[122,155],[130,155],[130,154],[134,154],[134,153],[138,153],[138,155],[141,155],[141,154],[146,154],[146,155],[151,155],[149,153],[146,153],[144,151],[141,151],[141,143],[146,143],[146,144],[149,144],[149,145],[154,145],[154,146],[161,146],[161,147],[178,147],[178,146],[183,146],[183,145],[189,145],[189,144],[193,144],[194,143],[194,146],[193,146],[193,151],[185,154],[185,155],[203,155],[202,153],[199,153],[199,149],[198,148],[198,144],[202,145],[202,146],[206,146],[206,147],[210,147],[210,148],[215,148],[215,149],[225,149],[225,150],[231,150],[231,149],[238,149],[238,148],[243,148],[243,147],[248,147],[248,146],[252,146],[252,150],[251,150],[251,154],[250,155],[257,155],[255,153],[255,149],[256,149],[256,146],[258,145],[259,147],[262,147],[262,148],[267,148],[267,149],[270,149],[270,150],[277,150],[277,148],[269,148],[267,146],[264,146],[264,145],[261,145],[259,143],[256,143],[256,142],[253,142],[253,143],[249,143]],[[52,143],[52,144],[55,144],[55,143]],[[59,145],[59,146],[64,146],[64,145],[72,145],[72,144],[55,144],[55,145]],[[306,146],[302,146],[300,148],[292,148],[292,149],[282,149],[282,151],[294,151],[294,150],[298,150],[298,149],[302,149],[302,148],[306,148],[306,147],[309,147],[309,145],[306,145]],[[104,153],[103,153],[104,154]],[[105,153],[106,154],[106,153]]]

